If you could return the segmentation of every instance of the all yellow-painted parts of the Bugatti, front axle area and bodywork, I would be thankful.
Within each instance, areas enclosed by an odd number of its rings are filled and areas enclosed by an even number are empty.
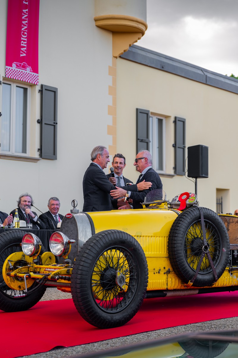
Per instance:
[[[153,209],[149,207],[133,211],[90,212],[88,214],[93,221],[95,233],[105,229],[116,229],[132,235],[140,243],[148,264],[147,291],[191,289],[174,273],[168,257],[169,230],[180,214],[179,211],[169,209],[167,204],[163,203]],[[225,217],[227,218],[229,215]],[[234,234],[230,240],[232,243],[236,242]],[[24,257],[20,257],[22,255]],[[17,260],[25,260],[26,266],[11,271],[9,262]],[[72,266],[55,263],[55,257],[50,252],[41,256],[41,262],[41,265],[35,263],[34,258],[27,257],[22,252],[10,255],[3,267],[5,282],[13,289],[23,290],[26,282],[27,288],[29,288],[34,281],[40,282],[47,278],[46,285],[71,292]],[[218,281],[209,287],[237,285],[238,270],[231,272],[227,267]]]

